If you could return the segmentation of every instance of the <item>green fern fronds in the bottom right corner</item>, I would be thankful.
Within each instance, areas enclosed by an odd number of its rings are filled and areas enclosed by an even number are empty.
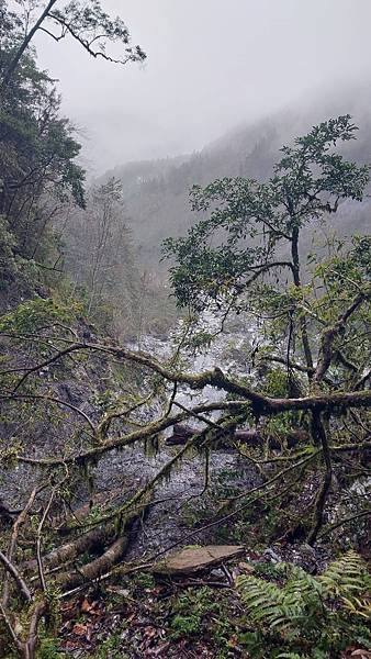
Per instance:
[[[272,656],[305,659],[311,649],[311,657],[331,657],[347,639],[362,636],[362,619],[370,616],[370,577],[355,551],[318,577],[286,563],[276,566],[276,574],[280,584],[254,574],[236,580],[248,619],[268,644],[282,650]]]

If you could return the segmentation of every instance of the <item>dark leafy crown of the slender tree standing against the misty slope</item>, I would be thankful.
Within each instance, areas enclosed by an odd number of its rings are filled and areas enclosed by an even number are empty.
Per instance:
[[[192,209],[209,215],[182,238],[169,238],[171,281],[181,306],[239,300],[252,282],[279,268],[300,286],[299,239],[315,219],[335,213],[341,200],[360,201],[369,167],[334,152],[355,138],[349,115],[315,126],[282,148],[282,158],[267,182],[225,178],[191,190]],[[289,247],[290,258],[285,256]]]

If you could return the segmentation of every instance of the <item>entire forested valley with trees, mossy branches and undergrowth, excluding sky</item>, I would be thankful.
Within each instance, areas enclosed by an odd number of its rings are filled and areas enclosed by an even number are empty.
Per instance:
[[[370,658],[366,97],[88,182],[41,31],[146,59],[0,0],[0,657]]]

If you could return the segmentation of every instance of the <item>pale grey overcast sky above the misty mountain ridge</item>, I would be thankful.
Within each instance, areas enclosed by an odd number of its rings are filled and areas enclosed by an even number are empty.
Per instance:
[[[60,4],[64,2],[60,0]],[[308,92],[369,79],[371,0],[102,0],[145,65],[94,60],[37,37],[90,169],[202,148]]]

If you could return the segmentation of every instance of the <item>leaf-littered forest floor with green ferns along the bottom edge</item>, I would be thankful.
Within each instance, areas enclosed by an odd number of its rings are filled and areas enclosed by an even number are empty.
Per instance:
[[[98,593],[82,600],[79,617],[67,618],[61,644],[42,636],[37,657],[66,659],[72,648],[83,659],[156,650],[175,658],[338,659],[350,656],[348,648],[368,651],[370,576],[355,551],[316,576],[283,562],[243,561],[229,569],[234,583],[222,589],[221,569],[205,581],[194,577],[192,585],[146,572],[113,580],[99,600]]]

